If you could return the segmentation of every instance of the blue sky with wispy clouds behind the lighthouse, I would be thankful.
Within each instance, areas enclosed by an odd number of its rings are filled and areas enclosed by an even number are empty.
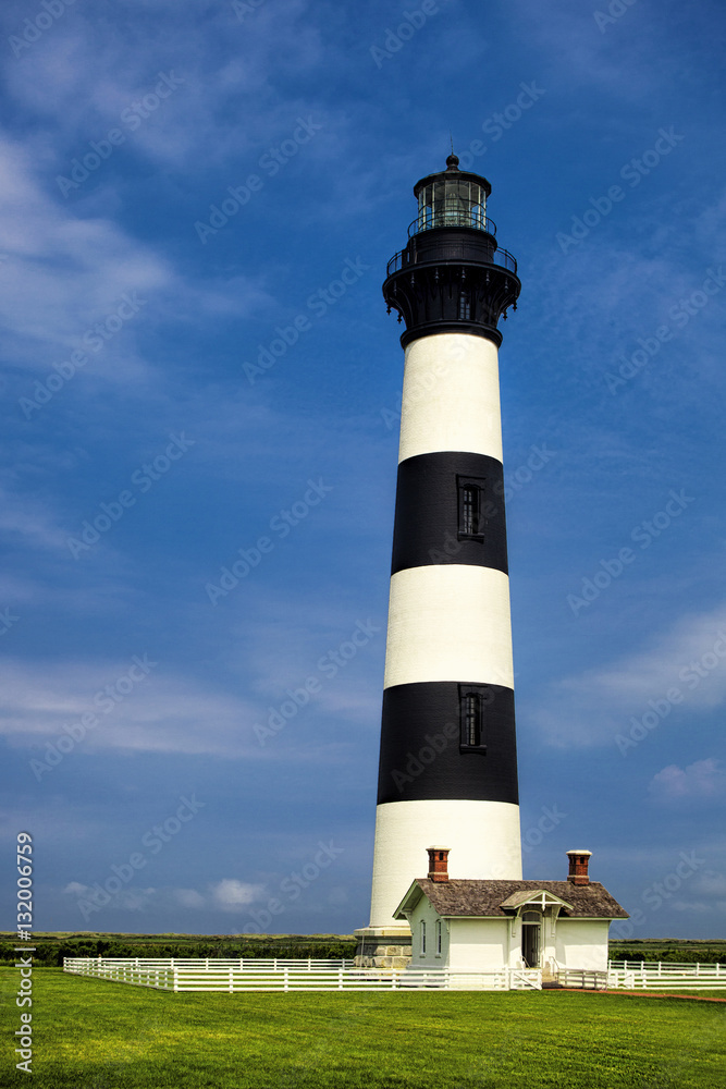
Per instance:
[[[380,285],[451,132],[522,281],[526,876],[587,847],[625,937],[723,937],[722,5],[1,20],[3,926],[20,830],[38,929],[368,921],[403,374]]]

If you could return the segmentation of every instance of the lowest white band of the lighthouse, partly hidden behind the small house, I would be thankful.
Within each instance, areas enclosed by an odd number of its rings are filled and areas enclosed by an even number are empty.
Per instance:
[[[519,806],[507,802],[387,802],[376,811],[371,927],[401,926],[393,913],[429,870],[427,847],[448,847],[448,874],[521,880]]]

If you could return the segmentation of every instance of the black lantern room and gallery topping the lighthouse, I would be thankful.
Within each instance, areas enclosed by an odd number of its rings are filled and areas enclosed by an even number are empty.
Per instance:
[[[469,332],[499,346],[499,319],[517,306],[517,262],[499,247],[487,215],[492,187],[458,161],[450,155],[446,170],[416,183],[408,244],[387,265],[383,296],[406,323],[404,347],[433,332]]]

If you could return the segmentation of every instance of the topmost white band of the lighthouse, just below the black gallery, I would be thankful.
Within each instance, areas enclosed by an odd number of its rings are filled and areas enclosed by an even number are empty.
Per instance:
[[[496,345],[470,333],[433,333],[406,348],[398,461],[467,450],[502,461]]]

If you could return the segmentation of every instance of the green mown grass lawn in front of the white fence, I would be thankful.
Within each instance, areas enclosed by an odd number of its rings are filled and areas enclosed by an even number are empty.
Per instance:
[[[2,1085],[25,1077],[9,1044],[16,989],[17,974],[3,969]],[[171,994],[41,968],[33,1026],[32,1084],[44,1089],[726,1085],[726,1005],[673,999]]]

